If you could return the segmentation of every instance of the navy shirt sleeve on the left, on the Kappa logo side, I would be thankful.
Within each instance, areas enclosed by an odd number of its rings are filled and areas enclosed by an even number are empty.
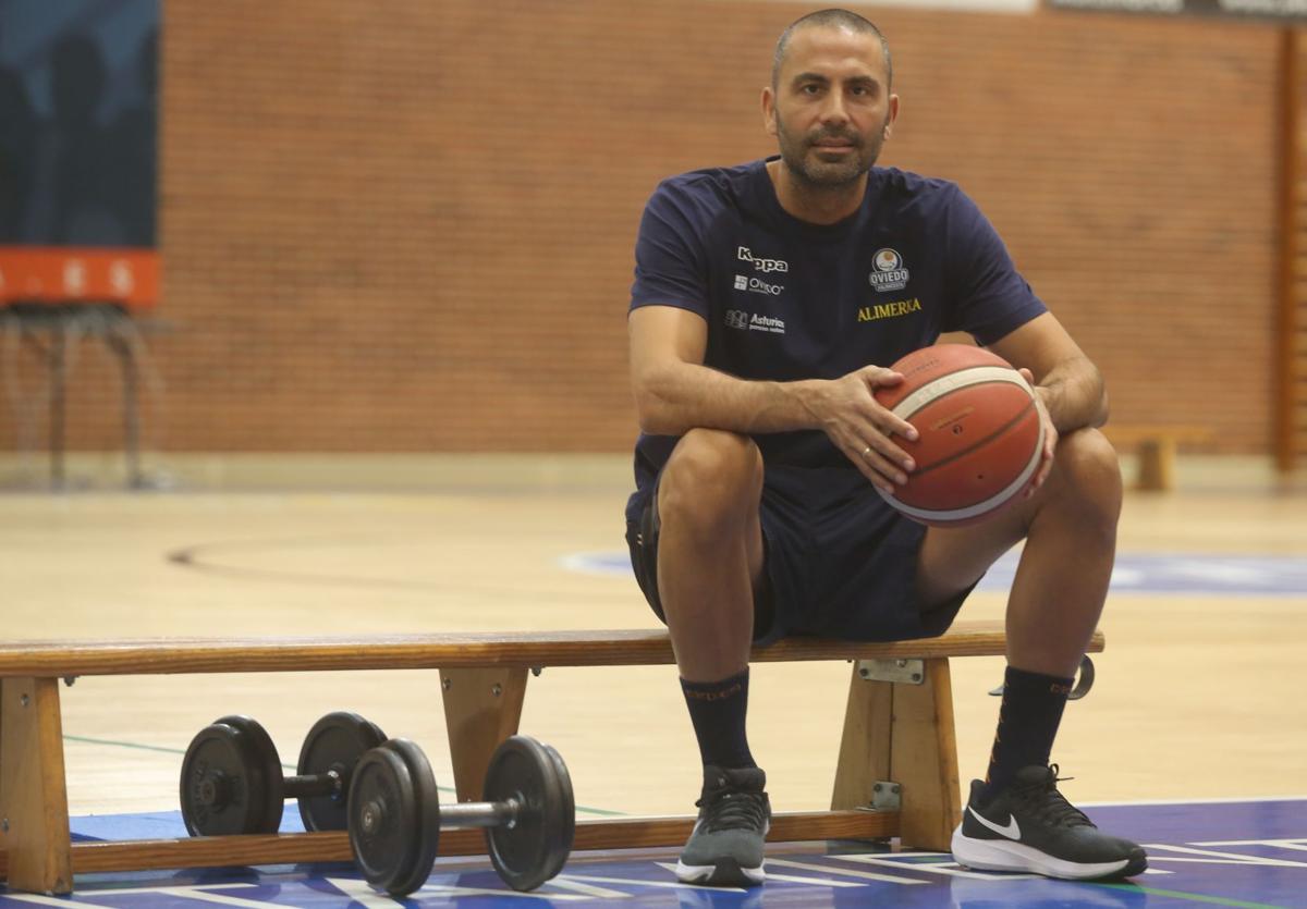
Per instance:
[[[707,256],[699,238],[691,200],[663,183],[640,218],[631,310],[674,306],[708,317]]]

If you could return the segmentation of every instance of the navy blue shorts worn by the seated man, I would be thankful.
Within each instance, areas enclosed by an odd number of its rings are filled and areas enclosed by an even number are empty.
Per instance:
[[[769,466],[761,521],[763,582],[755,592],[754,643],[787,635],[895,641],[935,637],[953,624],[970,589],[923,603],[916,556],[925,528],[910,521],[852,468]],[[627,521],[635,580],[664,620],[657,594],[657,483],[639,521]]]

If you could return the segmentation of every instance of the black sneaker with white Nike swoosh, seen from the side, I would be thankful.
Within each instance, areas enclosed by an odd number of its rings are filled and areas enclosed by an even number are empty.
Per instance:
[[[1023,767],[988,801],[984,782],[953,832],[953,858],[983,871],[1033,871],[1048,878],[1095,880],[1132,878],[1148,867],[1144,849],[1099,833],[1093,821],[1057,791],[1057,765]]]

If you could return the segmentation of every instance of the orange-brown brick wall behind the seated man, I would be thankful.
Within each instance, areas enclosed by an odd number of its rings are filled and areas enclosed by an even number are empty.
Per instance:
[[[661,176],[771,152],[758,90],[810,8],[169,4],[150,443],[625,449],[640,208]],[[903,97],[882,162],[979,200],[1114,419],[1265,451],[1274,29],[869,14]],[[114,447],[116,406],[84,351],[73,447]]]

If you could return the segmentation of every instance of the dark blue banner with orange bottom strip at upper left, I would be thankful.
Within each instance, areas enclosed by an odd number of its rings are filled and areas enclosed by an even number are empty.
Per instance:
[[[0,0],[0,303],[153,303],[158,0]]]

